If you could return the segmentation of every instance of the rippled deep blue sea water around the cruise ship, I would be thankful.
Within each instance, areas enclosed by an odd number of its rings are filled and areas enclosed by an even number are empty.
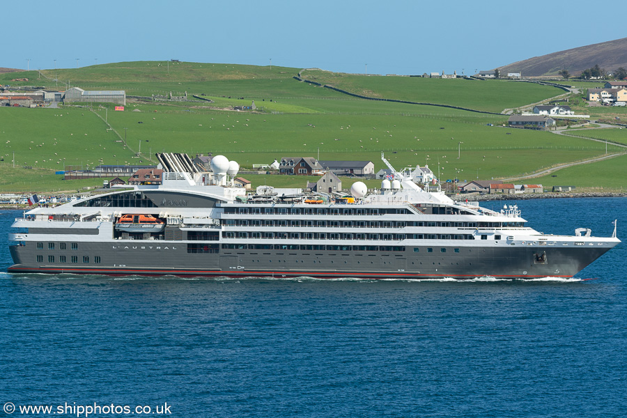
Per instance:
[[[618,219],[627,238],[624,198],[517,203],[545,233]],[[0,212],[6,242],[21,212]],[[6,245],[0,263],[5,416],[627,416],[625,244],[568,280],[8,274]]]

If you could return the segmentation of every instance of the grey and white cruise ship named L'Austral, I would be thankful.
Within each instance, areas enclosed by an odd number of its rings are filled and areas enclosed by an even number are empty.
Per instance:
[[[355,183],[348,199],[251,194],[236,162],[211,171],[185,154],[157,154],[160,184],[139,184],[38,207],[13,223],[12,273],[533,279],[573,277],[620,240],[548,235],[516,206],[449,199],[392,170],[381,188]],[[157,182],[158,183],[158,182]]]

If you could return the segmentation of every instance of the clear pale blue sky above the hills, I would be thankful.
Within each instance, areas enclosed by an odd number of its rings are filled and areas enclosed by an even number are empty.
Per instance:
[[[178,59],[336,72],[474,74],[625,38],[589,1],[31,0],[3,2],[0,67]],[[26,7],[27,6],[27,7]],[[591,17],[591,13],[594,15]],[[596,17],[595,17],[596,16]],[[11,21],[15,24],[12,24]]]

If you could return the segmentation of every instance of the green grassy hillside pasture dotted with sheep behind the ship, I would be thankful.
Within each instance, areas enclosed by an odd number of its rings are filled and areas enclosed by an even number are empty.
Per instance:
[[[155,162],[154,154],[162,151],[192,156],[224,154],[238,161],[242,170],[286,156],[318,155],[321,160],[370,160],[378,170],[385,168],[380,160],[385,152],[397,169],[429,164],[442,180],[521,176],[605,153],[605,144],[586,138],[503,127],[505,115],[351,98],[297,82],[292,78],[298,71],[295,68],[170,63],[168,76],[164,65],[117,63],[58,70],[57,74],[60,80],[75,80],[72,86],[79,84],[86,89],[125,89],[127,94],[136,95],[168,91],[180,95],[187,91],[189,97],[202,93],[214,102],[129,100],[125,111],[114,111],[112,104],[75,104],[60,109],[1,108],[0,190],[68,189],[67,183],[74,184],[76,180],[62,181],[61,176],[54,175],[48,180],[45,171],[38,169],[54,173],[69,166],[147,164],[150,160]],[[37,72],[32,71],[9,73],[0,75],[0,82],[15,84],[10,79],[24,74],[37,77]],[[42,74],[54,78],[54,70],[42,70]],[[451,104],[471,108],[524,104],[560,93],[555,88],[516,82],[358,75],[343,78],[355,87],[368,84],[380,94],[396,98],[416,93],[419,100],[433,102],[444,92],[453,100]],[[56,85],[45,77],[31,79],[28,84],[34,82],[51,88]],[[421,88],[412,93],[407,83]],[[231,108],[248,105],[251,100],[255,100],[257,111]],[[583,137],[595,132],[578,134]],[[604,130],[599,132],[605,135]],[[615,130],[611,135],[621,132],[627,130]],[[609,140],[621,142],[619,139]],[[607,150],[613,153],[623,148],[610,144]],[[24,169],[25,166],[32,169]],[[20,175],[15,176],[15,172]],[[33,172],[41,180],[33,177]],[[257,183],[261,177],[254,177],[254,185],[261,184]],[[102,184],[101,180],[84,182]],[[291,187],[304,187],[299,184],[289,183]]]

